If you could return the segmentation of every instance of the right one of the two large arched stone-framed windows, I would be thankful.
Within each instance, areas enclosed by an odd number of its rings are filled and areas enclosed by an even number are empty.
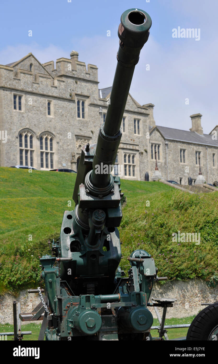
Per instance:
[[[43,149],[41,149],[41,138],[43,139]],[[45,138],[47,138],[47,147],[48,149],[46,149],[46,145],[45,145]],[[50,139],[52,139],[52,150],[51,150],[51,142]],[[55,137],[54,135],[52,135],[52,133],[45,131],[42,132],[39,135],[39,150],[40,150],[40,170],[42,171],[48,171],[50,169],[55,169],[54,165],[55,165],[55,153],[56,153],[56,142],[55,142]],[[43,167],[41,166],[41,158],[42,158],[42,153],[43,153]],[[46,153],[48,153],[48,167],[46,167]],[[51,154],[53,155],[53,166],[51,164]]]

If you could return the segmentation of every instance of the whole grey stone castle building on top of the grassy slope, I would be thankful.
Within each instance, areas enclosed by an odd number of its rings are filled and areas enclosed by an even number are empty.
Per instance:
[[[96,143],[105,120],[111,87],[98,89],[97,67],[70,59],[41,64],[32,53],[0,65],[0,166],[77,171],[81,147]],[[203,134],[201,114],[191,115],[190,131],[156,126],[153,104],[141,106],[129,94],[114,174],[145,180],[158,168],[166,180],[187,184],[199,172],[218,180],[218,141]]]

